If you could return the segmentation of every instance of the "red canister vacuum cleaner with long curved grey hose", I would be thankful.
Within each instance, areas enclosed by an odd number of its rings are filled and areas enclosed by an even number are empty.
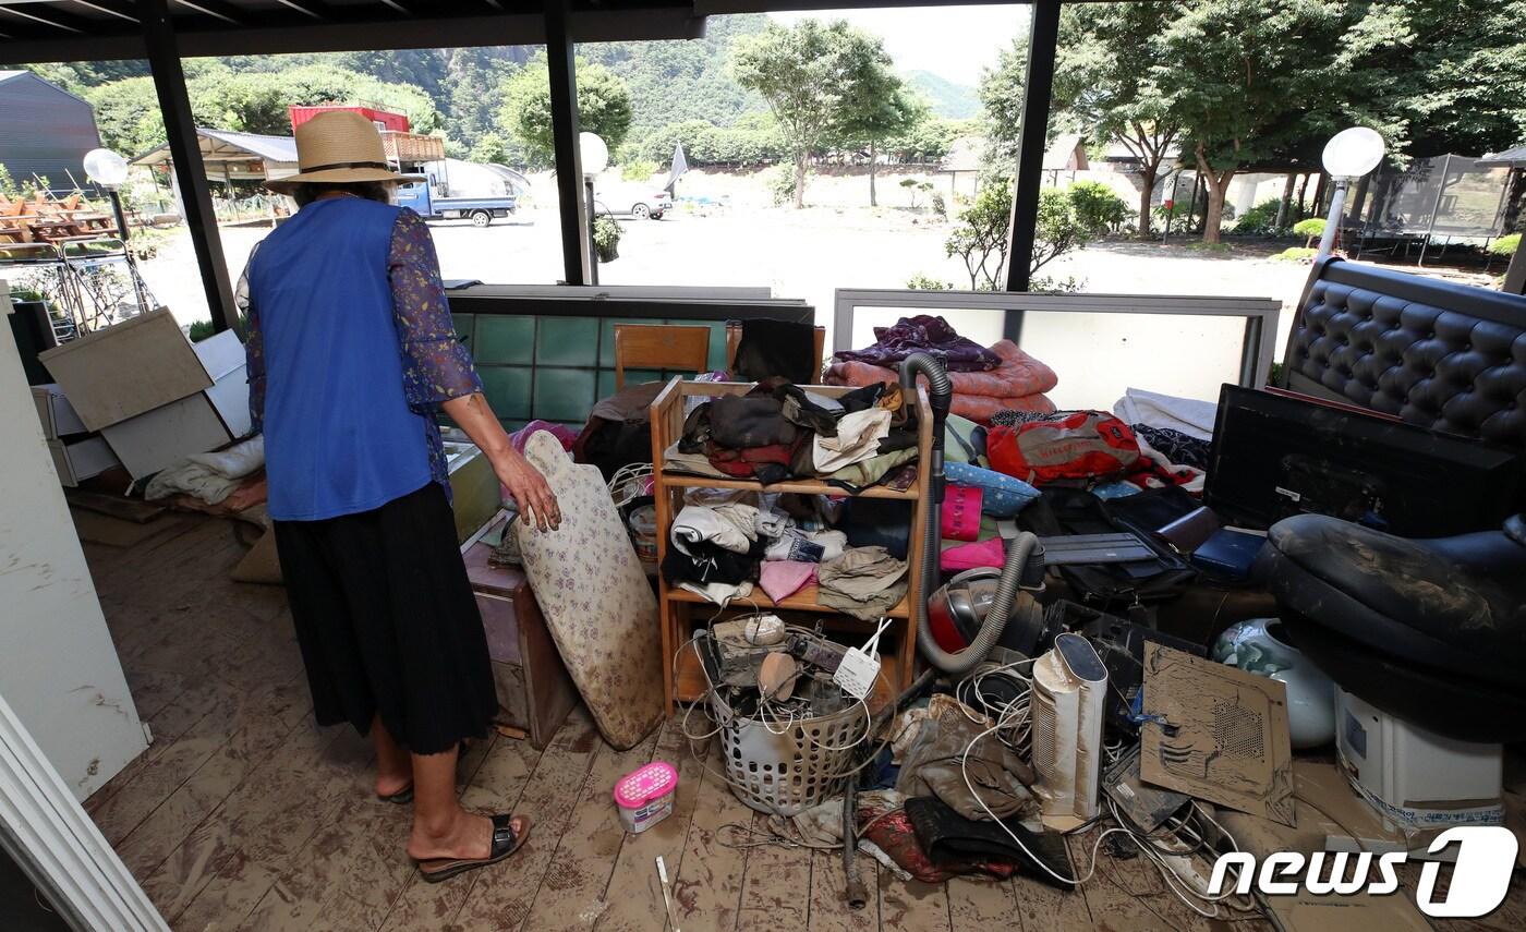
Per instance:
[[[926,352],[914,352],[900,363],[900,386],[911,397],[917,377],[928,378],[928,403],[932,407],[932,455],[923,464],[929,471],[928,517],[923,523],[922,564],[916,567],[919,590],[926,593],[938,580],[942,555],[943,509],[943,424],[954,400],[943,362]],[[942,673],[960,676],[986,659],[998,644],[1032,651],[1030,641],[1044,630],[1044,609],[1033,596],[1044,584],[1044,551],[1038,535],[1021,531],[1007,546],[1001,570],[977,569],[963,572],[948,586],[913,606],[917,621],[917,648]],[[1010,636],[1006,636],[1010,625]]]

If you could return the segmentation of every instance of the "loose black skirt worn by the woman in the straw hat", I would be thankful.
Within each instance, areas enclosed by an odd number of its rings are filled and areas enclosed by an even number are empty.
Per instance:
[[[497,712],[487,636],[438,484],[275,531],[319,725],[366,734],[380,715],[414,754],[487,734]]]

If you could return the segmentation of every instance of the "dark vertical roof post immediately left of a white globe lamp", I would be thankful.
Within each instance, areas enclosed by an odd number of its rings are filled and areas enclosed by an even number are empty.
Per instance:
[[[562,209],[562,258],[566,284],[588,285],[594,256],[589,253],[583,206],[583,156],[578,153],[577,69],[572,64],[572,34],[568,31],[571,0],[546,0],[546,63],[551,72],[551,142],[557,163],[557,204]]]

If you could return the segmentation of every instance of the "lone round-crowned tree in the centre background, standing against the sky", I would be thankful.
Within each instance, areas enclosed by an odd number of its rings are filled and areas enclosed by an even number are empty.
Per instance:
[[[806,204],[810,154],[838,137],[858,88],[877,81],[888,64],[881,40],[845,20],[801,20],[789,29],[769,23],[737,40],[737,84],[768,101],[795,159],[795,207]]]

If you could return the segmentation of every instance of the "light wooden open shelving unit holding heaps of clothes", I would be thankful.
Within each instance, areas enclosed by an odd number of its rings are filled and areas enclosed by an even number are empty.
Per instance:
[[[668,534],[673,526],[673,517],[678,514],[678,509],[682,508],[682,496],[687,488],[742,488],[765,493],[829,496],[848,494],[841,488],[815,479],[798,479],[792,482],[763,485],[760,482],[745,479],[716,479],[710,476],[690,476],[665,471],[664,453],[668,447],[678,442],[684,432],[684,401],[687,398],[742,395],[749,390],[752,390],[752,383],[694,383],[684,381],[682,378],[673,378],[673,381],[662,389],[662,394],[659,394],[652,403],[653,497],[656,499],[658,513],[659,563],[667,557],[667,549],[670,546]],[[810,390],[838,397],[845,395],[853,389],[838,386],[810,386]],[[917,599],[923,598],[920,580],[916,577],[916,567],[922,558],[922,535],[926,522],[926,508],[923,503],[928,497],[928,471],[925,465],[929,461],[932,450],[932,410],[928,406],[928,395],[925,389],[917,389],[917,397],[913,401],[917,406],[919,413],[917,462],[922,467],[917,474],[917,484],[906,491],[876,487],[861,493],[861,497],[899,499],[911,503],[911,537],[906,552],[909,589],[906,592],[906,598],[887,613],[890,618],[896,619],[896,624],[893,624],[881,639],[881,644],[885,647],[881,648],[882,688],[877,691],[888,693],[890,696],[899,694],[911,682],[913,664],[916,662],[917,653],[917,632],[913,627],[916,622],[913,621],[911,606],[916,606]],[[705,694],[705,674],[699,668],[699,657],[694,656],[694,651],[684,651],[684,654],[678,657],[676,670],[673,654],[684,647],[690,638],[693,638],[696,624],[694,618],[708,619],[716,613],[716,607],[703,596],[688,592],[687,589],[679,589],[676,586],[670,587],[667,580],[661,578],[661,574],[658,578],[658,604],[661,607],[662,619],[662,656],[668,660],[662,667],[662,679],[667,696],[667,711],[671,715],[674,703],[694,702]],[[700,607],[697,615],[694,612],[696,606]],[[752,596],[745,601],[732,601],[726,612],[748,613],[757,610],[803,612],[815,615],[823,621],[823,627],[826,627],[827,632],[865,635],[874,630],[871,622],[859,621],[848,615],[842,615],[836,609],[823,606],[816,601],[815,586],[807,586],[778,604],[754,587]]]

